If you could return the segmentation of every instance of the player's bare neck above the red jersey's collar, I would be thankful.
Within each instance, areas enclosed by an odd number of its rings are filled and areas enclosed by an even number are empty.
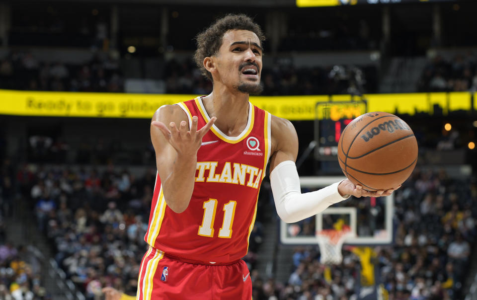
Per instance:
[[[202,97],[209,117],[217,117],[215,126],[230,137],[239,136],[248,122],[248,93],[218,88]]]

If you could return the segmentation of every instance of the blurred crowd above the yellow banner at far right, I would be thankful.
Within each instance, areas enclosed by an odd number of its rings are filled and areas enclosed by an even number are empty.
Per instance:
[[[436,55],[424,68],[417,83],[418,92],[477,91],[477,56],[456,55],[446,60]]]

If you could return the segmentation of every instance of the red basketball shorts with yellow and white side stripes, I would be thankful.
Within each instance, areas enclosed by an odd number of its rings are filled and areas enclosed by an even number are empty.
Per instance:
[[[139,271],[137,300],[251,300],[252,281],[243,260],[202,265],[164,256],[150,247]]]

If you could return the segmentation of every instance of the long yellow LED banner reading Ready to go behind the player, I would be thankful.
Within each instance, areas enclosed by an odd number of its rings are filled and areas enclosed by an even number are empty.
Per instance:
[[[196,95],[129,94],[0,90],[0,114],[16,116],[151,118],[164,104]],[[471,110],[471,93],[367,94],[368,111],[413,115],[433,114],[434,105],[448,110]],[[317,102],[350,101],[350,95],[252,96],[250,102],[289,120],[314,120]],[[337,104],[339,105],[339,104]],[[338,109],[336,111],[339,111]]]

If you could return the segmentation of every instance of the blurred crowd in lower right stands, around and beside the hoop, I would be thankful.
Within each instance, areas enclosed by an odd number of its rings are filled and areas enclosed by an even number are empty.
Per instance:
[[[462,299],[477,234],[477,182],[416,170],[395,193],[395,244],[374,248],[376,284],[390,300]],[[252,276],[255,287],[263,286],[253,298],[357,299],[360,259],[355,253],[343,247],[343,262],[327,267],[319,263],[318,247],[298,247],[288,282]]]

